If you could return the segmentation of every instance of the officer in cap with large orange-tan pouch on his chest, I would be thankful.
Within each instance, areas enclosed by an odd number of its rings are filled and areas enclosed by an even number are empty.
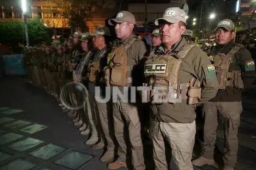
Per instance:
[[[138,84],[138,73],[136,65],[140,62],[146,52],[147,46],[144,41],[133,33],[135,18],[132,13],[127,11],[119,12],[116,18],[109,19],[108,24],[115,25],[116,37],[119,39],[113,46],[112,53],[108,55],[111,63],[110,81],[107,83],[112,89],[117,88],[124,92],[126,87],[140,86]],[[106,75],[107,70],[105,69]],[[108,78],[107,78],[108,79]],[[109,169],[126,167],[127,147],[131,147],[131,158],[133,169],[145,169],[143,157],[143,144],[141,141],[141,123],[138,115],[137,106],[134,103],[127,103],[113,96],[113,118],[115,126],[115,136],[118,141],[118,160],[108,164]],[[124,118],[124,119],[123,119]],[[127,129],[124,130],[124,128]],[[125,131],[129,132],[130,146],[124,140]]]

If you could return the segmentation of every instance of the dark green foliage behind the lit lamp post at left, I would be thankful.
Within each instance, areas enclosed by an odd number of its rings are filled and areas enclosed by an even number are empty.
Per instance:
[[[24,22],[10,19],[7,22],[0,22],[0,43],[8,46],[18,46],[18,43],[26,44],[24,32]],[[29,33],[29,44],[35,45],[42,41],[49,41],[46,27],[43,20],[35,17],[27,22],[27,30]]]

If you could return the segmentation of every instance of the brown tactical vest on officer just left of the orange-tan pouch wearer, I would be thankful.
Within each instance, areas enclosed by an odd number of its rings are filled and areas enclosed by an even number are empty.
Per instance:
[[[99,72],[101,72],[101,58],[102,56],[105,55],[105,52],[102,52],[101,55],[98,56],[96,61],[93,61],[90,63],[90,67],[89,67],[89,75],[88,75],[88,80],[91,83],[96,83],[96,81],[98,80],[98,76],[99,76]]]

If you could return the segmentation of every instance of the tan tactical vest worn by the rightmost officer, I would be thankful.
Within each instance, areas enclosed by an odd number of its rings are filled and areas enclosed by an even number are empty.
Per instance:
[[[218,53],[213,57],[219,89],[225,89],[227,86],[235,87],[236,89],[243,89],[241,71],[233,70],[232,72],[229,72],[230,63],[233,62],[235,53],[238,52],[241,47],[244,46],[241,44],[235,44],[227,55],[224,53]]]

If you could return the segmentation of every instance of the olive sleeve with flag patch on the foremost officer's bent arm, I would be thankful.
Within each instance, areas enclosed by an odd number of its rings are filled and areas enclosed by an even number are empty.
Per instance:
[[[199,49],[199,52],[195,57],[193,62],[194,69],[201,82],[202,88],[199,104],[202,104],[216,96],[218,92],[218,80],[216,78],[215,67],[210,60],[208,60],[207,54]]]

